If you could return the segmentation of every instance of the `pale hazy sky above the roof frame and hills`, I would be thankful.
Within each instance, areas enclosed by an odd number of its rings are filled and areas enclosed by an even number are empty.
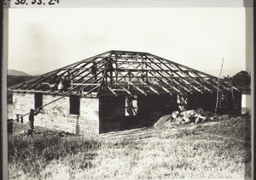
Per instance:
[[[250,70],[246,8],[10,8],[12,70],[40,75],[109,50],[153,53],[218,76]],[[253,15],[252,8],[247,9]]]

